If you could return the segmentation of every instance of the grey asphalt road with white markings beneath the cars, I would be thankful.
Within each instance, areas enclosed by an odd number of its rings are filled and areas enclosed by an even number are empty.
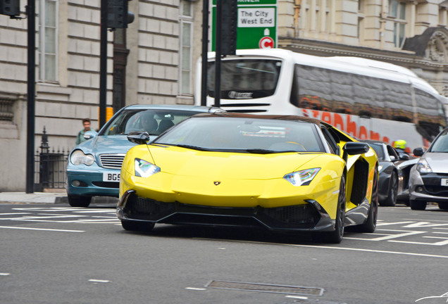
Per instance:
[[[375,234],[332,245],[247,229],[125,232],[112,205],[0,204],[0,238],[1,304],[448,299],[448,212],[436,206],[380,207]]]

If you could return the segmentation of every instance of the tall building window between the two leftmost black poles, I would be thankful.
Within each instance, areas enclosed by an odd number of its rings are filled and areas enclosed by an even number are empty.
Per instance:
[[[57,24],[58,1],[42,0],[39,7],[39,79],[56,82],[57,79]]]

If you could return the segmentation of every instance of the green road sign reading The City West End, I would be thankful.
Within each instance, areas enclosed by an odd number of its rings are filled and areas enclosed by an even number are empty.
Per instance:
[[[211,50],[216,42],[216,0],[212,7]],[[277,0],[238,0],[237,49],[277,47]]]

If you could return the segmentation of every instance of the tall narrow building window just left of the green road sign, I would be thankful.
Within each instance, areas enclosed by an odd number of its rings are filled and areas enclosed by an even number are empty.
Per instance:
[[[183,0],[180,8],[180,85],[179,93],[193,94],[192,89],[192,41],[193,12],[192,2]]]

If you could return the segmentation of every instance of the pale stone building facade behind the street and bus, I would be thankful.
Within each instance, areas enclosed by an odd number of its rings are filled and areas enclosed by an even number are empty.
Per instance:
[[[26,0],[20,10],[25,17]],[[99,120],[101,0],[36,1],[35,147],[75,146]],[[132,0],[135,21],[108,32],[106,104],[193,103],[201,0]],[[278,46],[411,68],[448,94],[448,4],[442,0],[278,0]],[[24,191],[27,23],[0,15],[0,191]]]

